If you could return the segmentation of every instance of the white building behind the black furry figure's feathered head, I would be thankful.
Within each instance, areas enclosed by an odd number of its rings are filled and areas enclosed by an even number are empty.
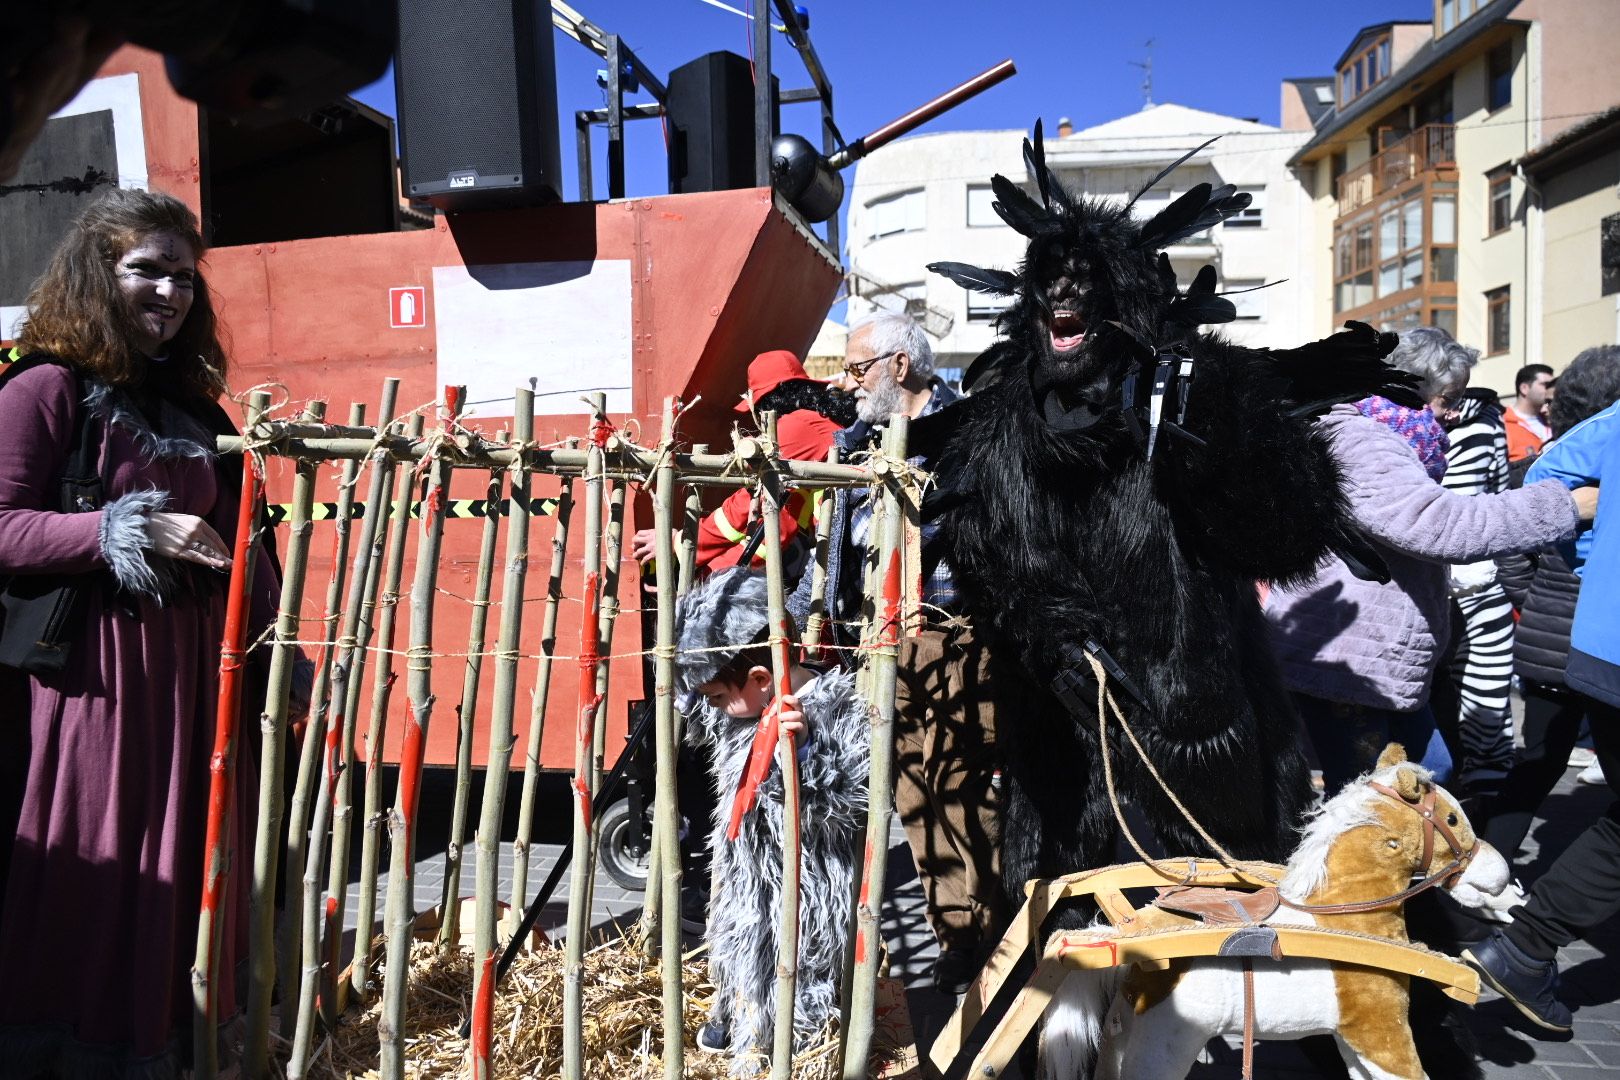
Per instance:
[[[1048,138],[1047,164],[1071,191],[1123,201],[1217,134],[1213,146],[1142,196],[1139,217],[1202,181],[1251,193],[1249,212],[1168,254],[1183,283],[1204,264],[1215,267],[1223,290],[1280,282],[1233,296],[1239,319],[1223,329],[1244,345],[1298,345],[1311,337],[1315,282],[1314,262],[1304,256],[1314,219],[1286,162],[1309,133],[1155,105]],[[990,176],[1003,173],[1034,191],[1022,139],[1022,131],[923,134],[891,142],[859,165],[849,210],[850,321],[875,306],[912,311],[933,338],[941,368],[966,366],[995,340],[998,298],[969,293],[925,267],[941,259],[1017,266],[1025,241],[990,209]]]

